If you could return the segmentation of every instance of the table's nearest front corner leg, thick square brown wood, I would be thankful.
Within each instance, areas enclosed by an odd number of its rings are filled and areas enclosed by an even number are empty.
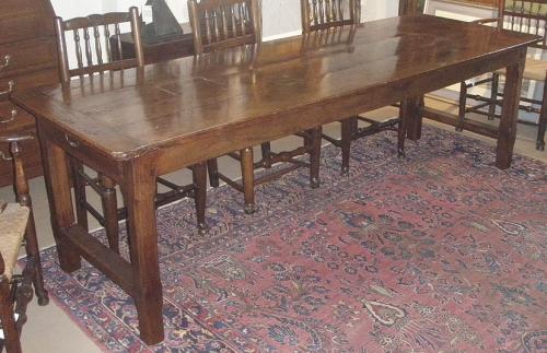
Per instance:
[[[140,337],[147,344],[163,341],[163,296],[158,258],[155,220],[155,154],[150,153],[124,166],[124,192],[135,283],[133,299]]]

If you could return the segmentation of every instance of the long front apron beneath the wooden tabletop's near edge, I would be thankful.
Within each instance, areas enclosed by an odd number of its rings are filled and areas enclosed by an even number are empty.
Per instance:
[[[283,138],[437,91],[484,73],[524,62],[525,55],[525,47],[494,52],[442,70],[418,73],[346,96],[276,113],[259,119],[249,119],[233,127],[222,127],[218,131],[205,131],[188,139],[174,140],[160,148],[158,173],[159,175],[167,174],[228,152]],[[340,111],[344,111],[344,116]]]

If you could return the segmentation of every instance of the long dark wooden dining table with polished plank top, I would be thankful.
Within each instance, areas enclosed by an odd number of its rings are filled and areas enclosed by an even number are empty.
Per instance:
[[[156,343],[163,340],[158,175],[396,102],[401,130],[418,139],[422,94],[500,68],[507,84],[496,164],[508,168],[526,45],[535,39],[403,16],[337,36],[296,36],[105,73],[12,99],[37,120],[60,266],[72,272],[84,257],[119,284],[135,299],[141,338]],[[120,185],[130,261],[77,224],[68,156]]]

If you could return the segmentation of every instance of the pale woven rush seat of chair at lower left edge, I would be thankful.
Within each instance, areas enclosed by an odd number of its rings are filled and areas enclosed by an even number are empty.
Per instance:
[[[4,260],[4,275],[11,280],[19,249],[25,235],[30,210],[19,203],[8,203],[0,213],[0,254]]]

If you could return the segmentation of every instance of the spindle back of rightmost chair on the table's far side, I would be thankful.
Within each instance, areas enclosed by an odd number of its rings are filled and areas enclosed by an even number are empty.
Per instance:
[[[302,32],[357,25],[361,21],[361,0],[300,0]]]

